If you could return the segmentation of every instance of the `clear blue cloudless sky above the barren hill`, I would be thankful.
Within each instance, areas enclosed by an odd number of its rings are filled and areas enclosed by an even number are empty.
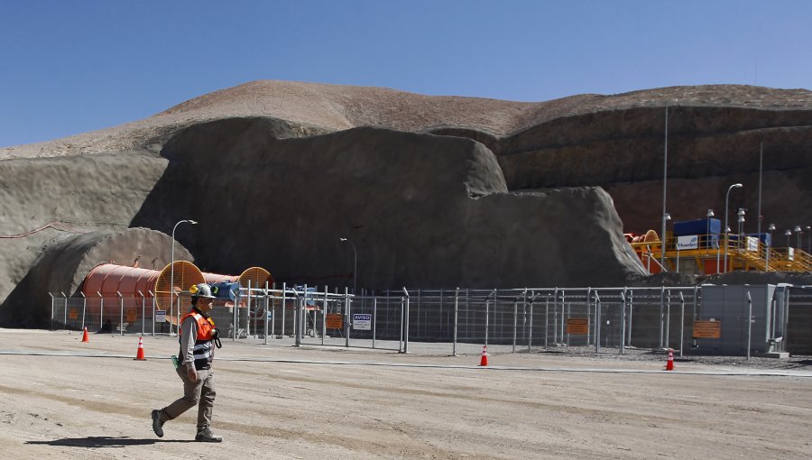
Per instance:
[[[0,146],[281,79],[545,101],[812,87],[807,0],[0,0]]]

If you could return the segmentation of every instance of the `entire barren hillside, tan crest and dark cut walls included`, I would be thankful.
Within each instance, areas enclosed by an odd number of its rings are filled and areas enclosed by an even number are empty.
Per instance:
[[[806,89],[521,103],[257,81],[0,149],[0,316],[58,235],[170,235],[184,218],[200,224],[176,236],[204,271],[259,265],[277,281],[376,290],[648,282],[622,233],[659,230],[666,106],[676,220],[723,216],[743,182],[730,208],[748,208],[754,232],[763,146],[762,231],[812,223]]]

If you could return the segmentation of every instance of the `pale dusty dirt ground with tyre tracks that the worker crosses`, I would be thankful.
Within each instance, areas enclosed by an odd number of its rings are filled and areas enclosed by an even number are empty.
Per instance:
[[[180,396],[177,339],[0,329],[0,457],[809,458],[812,364],[510,353],[409,354],[288,339],[217,350],[213,430]],[[605,358],[605,359],[604,359]],[[772,360],[771,363],[776,363]],[[744,364],[744,365],[742,365]]]

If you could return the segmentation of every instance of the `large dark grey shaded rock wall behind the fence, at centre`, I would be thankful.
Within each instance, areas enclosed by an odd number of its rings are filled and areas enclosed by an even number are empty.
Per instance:
[[[494,154],[458,137],[355,128],[278,139],[230,119],[176,135],[133,225],[173,216],[208,271],[268,267],[278,281],[396,289],[605,285],[640,266],[601,189],[508,193]]]

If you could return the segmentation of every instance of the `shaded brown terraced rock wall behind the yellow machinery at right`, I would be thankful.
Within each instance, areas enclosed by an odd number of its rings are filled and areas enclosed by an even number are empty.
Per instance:
[[[601,186],[624,228],[660,233],[665,111],[662,107],[575,115],[533,126],[493,145],[509,189]],[[669,107],[667,207],[675,220],[747,208],[757,229],[763,144],[761,230],[812,222],[812,111],[714,106]],[[659,199],[657,199],[659,198]]]

